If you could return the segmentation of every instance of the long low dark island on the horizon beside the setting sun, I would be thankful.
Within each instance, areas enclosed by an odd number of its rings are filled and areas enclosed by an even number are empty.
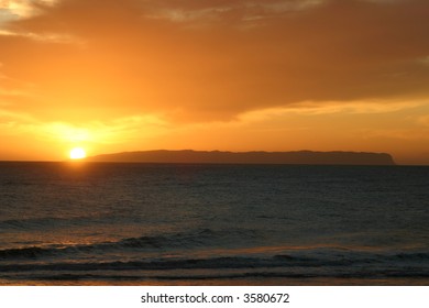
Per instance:
[[[183,164],[290,164],[290,165],[395,165],[387,153],[365,152],[221,152],[221,151],[139,151],[102,154],[87,162],[183,163]]]

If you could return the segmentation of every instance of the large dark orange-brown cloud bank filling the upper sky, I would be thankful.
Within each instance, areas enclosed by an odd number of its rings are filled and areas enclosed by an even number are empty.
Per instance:
[[[9,24],[21,36],[0,36],[0,72],[34,85],[29,105],[42,113],[92,107],[228,119],[308,100],[429,95],[426,0],[36,7]]]

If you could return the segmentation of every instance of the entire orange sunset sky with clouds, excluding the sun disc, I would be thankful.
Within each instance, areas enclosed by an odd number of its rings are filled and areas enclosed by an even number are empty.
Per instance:
[[[0,140],[429,164],[429,1],[0,0]]]

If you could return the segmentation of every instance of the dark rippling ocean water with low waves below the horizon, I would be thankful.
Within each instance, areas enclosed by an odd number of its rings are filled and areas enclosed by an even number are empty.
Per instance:
[[[429,168],[0,163],[0,285],[428,285]]]

